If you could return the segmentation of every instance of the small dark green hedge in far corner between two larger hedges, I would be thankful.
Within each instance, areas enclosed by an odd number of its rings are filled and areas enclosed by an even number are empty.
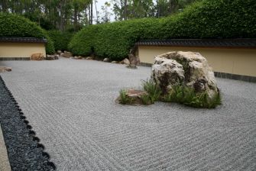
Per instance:
[[[56,30],[51,30],[47,32],[49,34],[50,39],[53,40],[55,51],[67,50],[67,45],[70,43],[70,40],[73,37],[73,33]]]

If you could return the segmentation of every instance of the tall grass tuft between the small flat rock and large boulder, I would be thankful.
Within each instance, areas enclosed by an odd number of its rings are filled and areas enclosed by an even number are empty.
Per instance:
[[[143,86],[144,91],[148,93],[148,96],[151,100],[151,103],[159,100],[161,95],[161,89],[157,84],[153,81],[153,79],[142,80],[141,85]]]

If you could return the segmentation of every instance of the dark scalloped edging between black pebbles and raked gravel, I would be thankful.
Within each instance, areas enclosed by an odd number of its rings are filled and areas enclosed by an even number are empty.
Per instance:
[[[5,81],[2,79],[2,77],[0,76],[0,82],[2,82],[3,86],[4,86],[4,89],[6,89],[6,91],[8,92],[8,95],[11,97],[11,100],[12,102],[15,102],[15,107],[18,108],[18,111],[19,111],[19,114],[20,114],[20,119],[21,121],[24,122],[24,124],[26,124],[26,127],[29,131],[29,134],[31,137],[33,137],[33,140],[37,143],[37,148],[41,148],[42,149],[42,156],[46,156],[48,161],[47,161],[47,165],[48,166],[51,166],[53,168],[53,170],[56,170],[57,169],[57,166],[53,163],[53,162],[50,162],[50,155],[49,153],[45,152],[44,151],[44,145],[43,144],[40,144],[40,139],[38,137],[36,137],[36,133],[35,131],[32,130],[32,127],[29,123],[28,120],[26,120],[26,117],[24,116],[24,113],[21,111],[21,108],[19,107],[18,105],[18,102],[16,102],[14,96],[11,94],[11,91],[8,89],[8,87],[5,85]]]

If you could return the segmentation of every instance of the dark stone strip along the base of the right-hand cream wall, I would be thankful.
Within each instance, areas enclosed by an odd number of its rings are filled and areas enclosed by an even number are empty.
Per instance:
[[[148,66],[151,67],[153,64],[151,63],[141,63],[141,66]],[[255,82],[256,83],[256,76],[242,76],[238,74],[232,74],[232,73],[220,73],[220,72],[214,72],[215,77],[219,77],[222,79],[235,79],[235,80],[241,80],[245,82]]]

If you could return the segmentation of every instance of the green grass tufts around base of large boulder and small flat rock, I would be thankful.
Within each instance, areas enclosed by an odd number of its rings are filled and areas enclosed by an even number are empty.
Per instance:
[[[152,79],[142,80],[141,85],[144,93],[136,97],[129,97],[128,92],[130,94],[131,92],[139,92],[141,90],[120,90],[118,102],[123,105],[151,105],[156,101],[177,102],[194,108],[215,108],[217,105],[222,104],[220,92],[217,92],[210,98],[206,92],[196,92],[193,88],[179,84],[172,86],[172,89],[163,95],[160,87]]]

